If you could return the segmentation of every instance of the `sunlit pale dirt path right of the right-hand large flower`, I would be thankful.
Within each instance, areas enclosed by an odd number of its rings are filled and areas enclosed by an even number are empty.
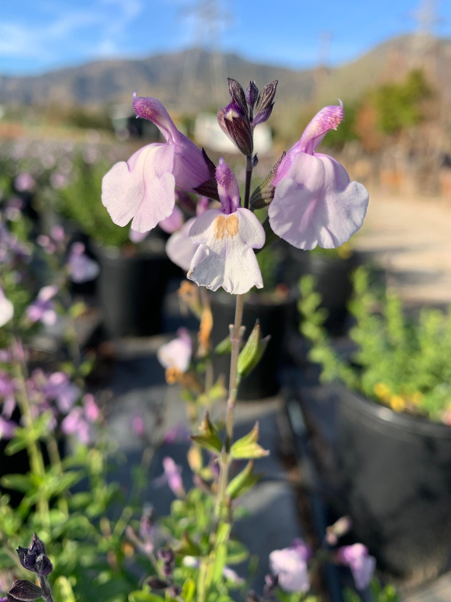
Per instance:
[[[441,199],[370,194],[358,250],[390,274],[408,305],[451,302],[451,203]]]

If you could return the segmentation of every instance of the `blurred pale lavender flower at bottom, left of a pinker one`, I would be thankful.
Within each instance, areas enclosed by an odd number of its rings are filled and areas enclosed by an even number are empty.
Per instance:
[[[269,566],[278,578],[278,585],[286,592],[307,592],[310,589],[307,560],[311,558],[310,547],[295,539],[289,548],[274,550],[269,554]]]

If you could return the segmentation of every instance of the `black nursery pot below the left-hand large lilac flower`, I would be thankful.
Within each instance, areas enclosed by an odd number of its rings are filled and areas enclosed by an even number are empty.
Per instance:
[[[109,337],[159,334],[162,305],[171,275],[164,241],[153,248],[126,256],[115,247],[99,247],[97,282],[99,305]]]

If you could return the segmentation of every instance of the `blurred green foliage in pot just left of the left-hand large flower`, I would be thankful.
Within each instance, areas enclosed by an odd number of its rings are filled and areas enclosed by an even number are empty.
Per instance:
[[[99,201],[102,178],[107,171],[108,166],[103,161],[88,164],[81,156],[76,157],[73,182],[60,191],[58,205],[64,216],[78,223],[97,243],[121,247],[129,242],[128,228],[115,225]]]

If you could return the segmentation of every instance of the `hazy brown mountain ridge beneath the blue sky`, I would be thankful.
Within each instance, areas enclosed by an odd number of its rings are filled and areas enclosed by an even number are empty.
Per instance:
[[[355,61],[319,72],[251,63],[236,54],[218,56],[200,49],[141,60],[94,61],[33,77],[0,76],[0,104],[99,107],[129,102],[130,93],[140,90],[143,95],[158,97],[169,108],[193,110],[223,102],[225,76],[243,84],[256,79],[260,86],[278,79],[278,99],[283,104],[300,105],[312,99],[316,103],[336,102],[337,98],[349,101],[415,66],[415,40],[412,36],[388,40]],[[432,79],[446,98],[451,98],[451,40],[437,40],[428,58]]]

